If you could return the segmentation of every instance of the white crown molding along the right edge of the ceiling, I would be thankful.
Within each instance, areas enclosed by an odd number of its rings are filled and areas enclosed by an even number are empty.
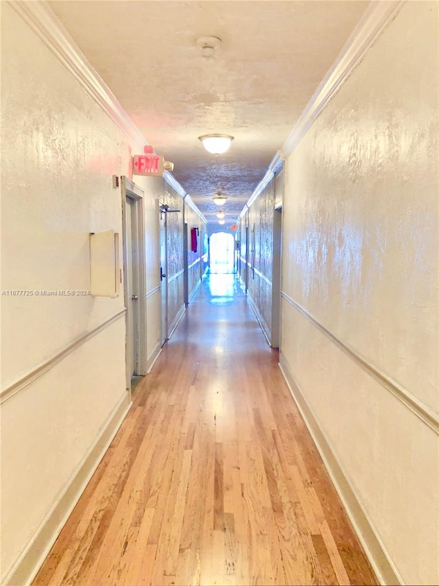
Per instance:
[[[244,218],[246,210],[259,198],[263,189],[274,177],[278,167],[283,161],[287,160],[311,124],[313,124],[313,121],[326,108],[337,91],[340,90],[385,28],[394,20],[404,3],[405,0],[370,2],[351,36],[346,40],[335,62],[309,100],[293,130],[289,133],[281,150],[276,153],[270,163],[270,167],[268,167],[262,180],[254,189],[252,196],[239,214],[238,220]]]

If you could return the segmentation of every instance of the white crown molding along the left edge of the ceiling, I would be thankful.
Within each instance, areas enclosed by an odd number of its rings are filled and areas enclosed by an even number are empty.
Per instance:
[[[104,80],[91,67],[86,56],[84,56],[67,30],[64,29],[49,5],[44,1],[17,2],[13,0],[8,0],[8,4],[43,40],[43,43],[73,75],[73,78],[82,85],[88,95],[91,95],[97,105],[104,110],[116,126],[126,134],[132,143],[143,151],[143,147],[148,144],[148,141],[126,111],[123,110]],[[182,198],[185,198],[185,189],[169,171],[165,171],[163,177]],[[198,211],[198,213],[201,212]]]

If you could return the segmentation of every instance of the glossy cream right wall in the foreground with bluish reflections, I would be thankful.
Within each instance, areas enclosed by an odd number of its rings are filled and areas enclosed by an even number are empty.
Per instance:
[[[438,435],[353,355],[438,413],[437,43],[438,4],[403,5],[287,159],[283,207],[283,358],[396,573],[423,585]]]

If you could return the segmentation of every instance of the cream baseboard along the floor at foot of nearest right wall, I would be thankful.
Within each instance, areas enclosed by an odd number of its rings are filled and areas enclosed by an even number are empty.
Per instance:
[[[366,552],[375,574],[377,574],[379,583],[383,586],[396,586],[403,584],[399,572],[397,572],[394,567],[390,555],[385,550],[381,540],[377,537],[372,522],[361,506],[361,500],[348,481],[348,477],[338,462],[333,449],[331,449],[331,445],[329,444],[329,441],[327,441],[324,432],[318,425],[318,422],[282,353],[279,355],[279,368],[281,368],[289,392],[291,392],[294,402],[296,403],[302,418],[305,420],[309,433],[322,457],[324,466],[329,473],[335,490],[337,491],[340,500],[346,509],[346,513],[353,524],[355,533]]]

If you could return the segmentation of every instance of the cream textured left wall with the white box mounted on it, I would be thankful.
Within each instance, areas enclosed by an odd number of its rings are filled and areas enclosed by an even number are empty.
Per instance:
[[[121,191],[113,189],[112,175],[132,179],[131,155],[141,148],[8,3],[2,3],[1,17],[1,289],[88,290],[89,233],[122,233]],[[156,200],[164,181],[134,180],[145,194],[146,279],[152,292],[159,283]],[[157,298],[153,293],[147,300],[148,356],[160,340]],[[27,569],[38,563],[47,545],[38,541],[41,528],[64,502],[84,462],[91,468],[97,463],[104,448],[99,441],[109,441],[117,430],[129,397],[123,291],[115,299],[1,296],[1,314],[5,583],[21,567],[27,548]],[[101,325],[106,327],[88,339]],[[54,362],[78,340],[83,343]],[[45,364],[49,370],[38,371]],[[27,374],[28,384],[11,394]]]

